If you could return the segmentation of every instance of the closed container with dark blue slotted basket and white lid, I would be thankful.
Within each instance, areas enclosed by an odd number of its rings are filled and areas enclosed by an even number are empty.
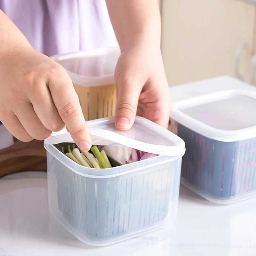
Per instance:
[[[256,92],[225,90],[173,105],[171,127],[186,143],[181,183],[214,203],[256,196]]]

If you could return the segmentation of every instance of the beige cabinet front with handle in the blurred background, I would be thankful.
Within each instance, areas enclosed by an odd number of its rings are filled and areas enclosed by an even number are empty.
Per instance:
[[[162,0],[162,53],[169,86],[220,75],[251,82],[255,3],[243,0]],[[255,1],[256,2],[256,1]],[[247,48],[239,47],[246,43]]]

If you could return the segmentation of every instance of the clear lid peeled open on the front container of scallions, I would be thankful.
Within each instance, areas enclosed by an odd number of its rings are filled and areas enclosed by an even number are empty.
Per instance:
[[[137,116],[129,131],[115,128],[115,117],[87,122],[93,145],[113,145],[138,149],[156,155],[180,156],[185,153],[185,143],[178,136],[163,127]],[[74,143],[66,129],[53,132],[44,140],[45,144]]]

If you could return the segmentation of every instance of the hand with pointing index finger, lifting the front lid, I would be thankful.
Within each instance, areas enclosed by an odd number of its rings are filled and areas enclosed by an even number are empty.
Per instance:
[[[0,120],[21,141],[44,140],[67,126],[82,150],[92,145],[66,70],[32,47],[1,55]]]

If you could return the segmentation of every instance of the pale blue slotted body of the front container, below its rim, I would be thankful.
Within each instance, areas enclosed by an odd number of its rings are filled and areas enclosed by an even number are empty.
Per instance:
[[[181,158],[112,178],[80,176],[47,152],[49,208],[79,240],[102,246],[171,224]]]

